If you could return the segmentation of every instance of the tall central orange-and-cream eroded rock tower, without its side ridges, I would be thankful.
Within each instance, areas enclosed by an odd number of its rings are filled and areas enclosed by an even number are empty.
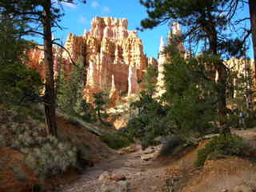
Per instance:
[[[138,81],[148,65],[142,41],[136,31],[128,30],[125,18],[99,18],[91,22],[92,29],[84,34],[86,63],[89,65],[86,98],[98,90],[138,92]]]

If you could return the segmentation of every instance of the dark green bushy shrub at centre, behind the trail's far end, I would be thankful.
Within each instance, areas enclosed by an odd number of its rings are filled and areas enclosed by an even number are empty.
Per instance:
[[[138,109],[138,114],[130,118],[125,133],[131,140],[139,139],[143,149],[154,145],[154,138],[170,134],[171,123],[166,118],[169,106],[162,106],[146,92],[142,92],[140,100],[133,102],[132,106]]]

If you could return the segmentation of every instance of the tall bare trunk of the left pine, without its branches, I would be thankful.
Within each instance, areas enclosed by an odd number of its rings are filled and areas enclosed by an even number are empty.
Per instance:
[[[51,39],[51,0],[45,0],[43,6],[44,16],[42,21],[44,38],[44,62],[46,65],[46,90],[45,90],[45,114],[46,133],[57,136],[55,116],[55,87],[54,87],[54,57]]]

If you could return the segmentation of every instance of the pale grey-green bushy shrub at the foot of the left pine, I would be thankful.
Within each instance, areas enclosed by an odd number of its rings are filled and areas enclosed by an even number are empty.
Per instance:
[[[63,173],[77,162],[76,147],[60,142],[52,135],[44,137],[36,131],[19,134],[11,146],[25,154],[26,165],[40,178]]]

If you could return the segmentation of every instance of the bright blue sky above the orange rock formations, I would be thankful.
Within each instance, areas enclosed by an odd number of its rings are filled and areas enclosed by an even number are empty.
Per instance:
[[[86,4],[65,3],[63,8],[66,15],[62,18],[60,26],[66,29],[62,31],[56,29],[54,32],[55,38],[61,38],[63,42],[66,41],[66,36],[70,32],[82,35],[85,29],[90,30],[90,21],[95,16],[128,18],[129,30],[135,30],[140,26],[140,21],[147,16],[146,8],[139,3],[139,0],[87,0]],[[249,15],[248,7],[238,11],[237,17],[242,18],[241,15],[242,17]],[[250,24],[247,22],[246,26]],[[168,31],[167,25],[155,27],[153,30],[138,31],[138,37],[142,38],[144,52],[148,57],[157,57],[160,38],[161,36],[166,38]],[[251,49],[249,56],[253,57]]]

